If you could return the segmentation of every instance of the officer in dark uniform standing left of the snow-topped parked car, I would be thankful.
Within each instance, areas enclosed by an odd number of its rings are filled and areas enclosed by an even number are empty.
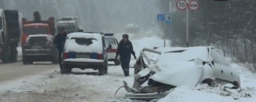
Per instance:
[[[59,53],[59,63],[61,64],[62,62],[62,57],[61,54],[64,49],[64,44],[66,41],[67,33],[64,28],[59,28],[60,33],[58,33],[54,39],[54,45],[56,45]]]

